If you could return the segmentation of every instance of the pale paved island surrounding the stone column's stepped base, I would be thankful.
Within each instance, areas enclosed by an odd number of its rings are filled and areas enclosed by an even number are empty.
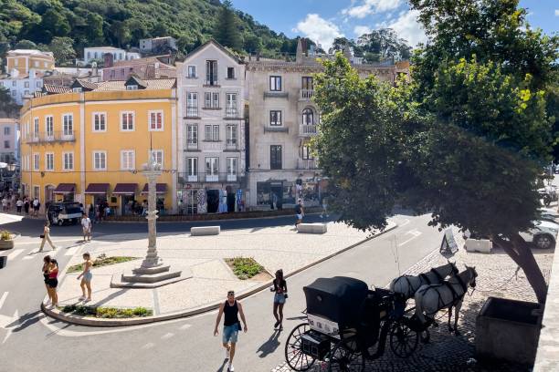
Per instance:
[[[390,222],[386,231],[396,227]],[[378,233],[377,233],[378,234]],[[156,289],[111,288],[111,276],[120,275],[141,263],[147,251],[147,239],[123,240],[121,235],[104,235],[102,242],[83,244],[71,258],[67,267],[81,263],[81,254],[90,252],[92,258],[101,253],[109,256],[139,257],[128,263],[118,263],[92,270],[93,301],[87,305],[117,307],[142,306],[153,309],[153,317],[121,320],[121,323],[95,318],[69,319],[58,311],[47,310],[47,314],[67,321],[88,325],[123,325],[153,322],[171,317],[192,315],[214,309],[228,290],[243,297],[268,287],[273,274],[283,269],[286,275],[301,271],[333,254],[341,253],[370,237],[369,233],[350,228],[343,223],[328,223],[328,233],[297,233],[294,227],[279,226],[255,229],[222,231],[215,236],[190,236],[189,233],[163,236],[157,239],[158,253],[163,262],[172,265],[172,270],[190,267],[191,279],[169,284]],[[128,236],[132,238],[132,236]],[[113,241],[121,239],[121,241]],[[239,280],[225,263],[225,258],[253,257],[268,274],[258,274],[249,280]],[[59,278],[59,305],[77,304],[81,289],[77,280],[79,273],[66,274]]]

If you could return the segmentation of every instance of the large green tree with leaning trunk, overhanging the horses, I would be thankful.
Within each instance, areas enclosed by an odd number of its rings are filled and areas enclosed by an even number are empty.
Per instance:
[[[363,229],[383,227],[397,202],[440,228],[489,235],[543,303],[519,232],[539,216],[537,177],[555,140],[557,39],[527,27],[514,0],[411,4],[430,38],[411,84],[361,80],[341,56],[317,76],[316,148],[333,207]]]

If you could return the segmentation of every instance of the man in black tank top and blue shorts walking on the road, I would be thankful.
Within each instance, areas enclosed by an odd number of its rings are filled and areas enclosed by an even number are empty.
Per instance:
[[[240,315],[243,324],[245,325],[245,333],[248,331],[247,320],[245,319],[245,313],[243,312],[243,306],[235,299],[235,292],[227,292],[227,300],[225,303],[219,305],[219,312],[217,313],[216,328],[214,328],[214,336],[217,336],[219,332],[217,331],[217,326],[221,321],[221,315],[225,314],[225,320],[223,323],[223,336],[222,342],[223,347],[226,348],[226,360],[229,360],[229,367],[227,370],[229,372],[234,372],[233,358],[235,357],[235,349],[237,345],[238,331],[241,330],[241,324],[238,321],[238,316]]]

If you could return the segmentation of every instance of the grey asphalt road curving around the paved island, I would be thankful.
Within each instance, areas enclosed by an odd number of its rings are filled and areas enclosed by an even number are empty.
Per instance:
[[[12,217],[9,217],[13,219]],[[311,217],[318,220],[318,216]],[[346,253],[311,267],[288,279],[290,298],[285,307],[284,331],[274,332],[272,294],[260,292],[243,300],[248,333],[239,336],[237,371],[261,372],[283,362],[283,347],[290,329],[301,322],[305,308],[302,287],[319,276],[347,275],[368,284],[385,286],[438,247],[442,233],[427,226],[429,217],[397,214],[398,227]],[[0,221],[2,222],[2,221]],[[248,228],[290,224],[292,218],[220,222],[222,228]],[[35,236],[40,221],[8,222],[10,229],[23,233],[23,248],[0,270],[0,371],[79,369],[82,371],[223,371],[227,370],[220,337],[212,336],[216,312],[153,325],[127,328],[93,328],[65,325],[39,312],[45,295],[40,273],[40,255]],[[184,233],[190,223],[160,223],[158,232]],[[142,223],[106,223],[95,226],[98,237],[111,233],[139,233]],[[38,232],[38,233],[37,233]],[[56,256],[63,267],[68,263],[79,228],[52,230],[64,243]],[[29,242],[29,243],[25,243]],[[14,255],[15,250],[10,251]],[[30,258],[27,258],[30,257]],[[397,257],[397,259],[396,259]],[[185,294],[188,295],[188,294]],[[224,294],[225,300],[225,294]]]

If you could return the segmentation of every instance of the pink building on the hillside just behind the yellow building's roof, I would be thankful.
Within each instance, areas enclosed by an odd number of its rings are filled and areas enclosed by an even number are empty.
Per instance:
[[[102,80],[126,80],[131,74],[135,74],[142,79],[176,78],[176,68],[171,65],[172,58],[170,55],[117,62],[112,62],[111,58],[108,58],[105,59]]]

